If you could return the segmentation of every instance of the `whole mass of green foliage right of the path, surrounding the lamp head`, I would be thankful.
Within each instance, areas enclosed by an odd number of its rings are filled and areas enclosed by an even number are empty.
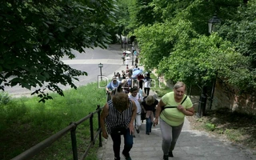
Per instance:
[[[140,15],[150,18],[150,22],[137,22],[140,25],[130,32],[137,37],[146,70],[157,69],[166,78],[192,85],[207,85],[218,76],[238,90],[256,88],[255,0],[138,0],[134,4],[145,9],[145,15]],[[214,13],[222,24],[217,33],[209,34],[207,23]],[[139,20],[136,16],[133,19]]]

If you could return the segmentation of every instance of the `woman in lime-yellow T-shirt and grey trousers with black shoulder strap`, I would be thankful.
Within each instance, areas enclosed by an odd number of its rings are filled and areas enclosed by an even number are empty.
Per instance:
[[[182,131],[185,116],[194,115],[193,104],[185,93],[186,85],[183,82],[177,82],[174,85],[174,91],[165,94],[158,102],[154,125],[158,125],[159,121],[164,160],[174,157],[173,150]]]

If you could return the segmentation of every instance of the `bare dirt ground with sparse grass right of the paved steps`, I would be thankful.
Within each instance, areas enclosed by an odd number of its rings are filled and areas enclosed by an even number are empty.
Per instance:
[[[222,109],[208,110],[202,118],[196,115],[186,118],[193,130],[204,130],[226,138],[239,146],[252,149],[256,154],[256,116]]]

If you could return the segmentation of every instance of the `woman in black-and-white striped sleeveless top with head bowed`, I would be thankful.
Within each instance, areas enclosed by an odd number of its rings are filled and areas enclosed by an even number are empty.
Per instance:
[[[130,160],[130,149],[133,146],[134,139],[134,118],[137,113],[137,107],[134,101],[128,98],[125,93],[118,93],[112,97],[112,100],[103,107],[100,117],[103,138],[108,138],[108,134],[113,141],[114,159],[120,160],[121,135],[124,137],[124,149],[122,154],[126,160]]]

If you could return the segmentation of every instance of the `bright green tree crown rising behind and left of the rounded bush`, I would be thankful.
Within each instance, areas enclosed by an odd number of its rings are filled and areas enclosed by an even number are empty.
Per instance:
[[[192,28],[192,23],[180,17],[172,22],[142,26],[134,30],[134,34],[138,37],[140,58],[146,70],[158,69],[159,63],[163,58],[170,57],[178,42],[189,42],[190,38],[198,37]],[[182,41],[183,39],[185,41]],[[186,43],[183,45],[186,46]]]

